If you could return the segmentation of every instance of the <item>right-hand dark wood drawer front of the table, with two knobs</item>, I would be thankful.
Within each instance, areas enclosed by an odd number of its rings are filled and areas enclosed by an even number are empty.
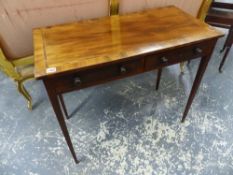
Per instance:
[[[202,57],[211,52],[211,48],[208,46],[209,43],[205,42],[177,48],[175,50],[166,51],[164,53],[162,52],[156,55],[149,55],[145,58],[145,69],[158,69],[190,59]]]

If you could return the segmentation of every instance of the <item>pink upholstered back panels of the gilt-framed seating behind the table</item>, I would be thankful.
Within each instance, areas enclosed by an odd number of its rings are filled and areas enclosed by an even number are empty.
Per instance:
[[[108,15],[109,0],[0,0],[0,42],[10,58],[33,53],[32,29]],[[176,5],[196,15],[202,0],[120,0],[120,12]]]

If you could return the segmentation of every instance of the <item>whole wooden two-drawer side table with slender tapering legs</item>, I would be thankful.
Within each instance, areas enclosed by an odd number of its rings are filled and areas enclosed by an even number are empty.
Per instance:
[[[158,89],[163,67],[201,58],[184,122],[222,35],[176,7],[34,30],[35,76],[44,82],[75,162],[60,94],[155,69]]]

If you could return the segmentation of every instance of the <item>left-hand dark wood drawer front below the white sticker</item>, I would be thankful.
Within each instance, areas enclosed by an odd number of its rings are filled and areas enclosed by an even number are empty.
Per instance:
[[[56,84],[54,87],[57,88],[57,92],[64,93],[135,75],[143,72],[143,67],[143,59],[133,60],[54,77],[51,81]]]

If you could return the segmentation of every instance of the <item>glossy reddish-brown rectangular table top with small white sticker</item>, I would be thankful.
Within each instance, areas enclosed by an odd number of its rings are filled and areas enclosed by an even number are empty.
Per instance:
[[[134,59],[220,36],[174,6],[34,29],[35,77]]]

